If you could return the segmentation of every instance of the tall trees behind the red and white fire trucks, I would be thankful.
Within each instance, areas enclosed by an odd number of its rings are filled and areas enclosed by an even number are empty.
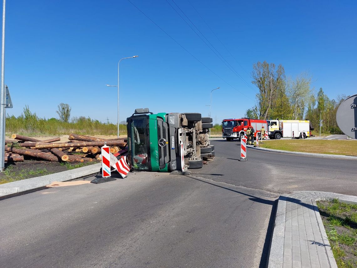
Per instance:
[[[284,67],[267,61],[253,64],[252,84],[256,85],[255,105],[245,116],[263,120],[310,120],[319,129],[320,113],[323,120],[321,132],[342,134],[336,123],[336,111],[346,95],[330,99],[320,88],[315,92],[311,86],[312,76],[302,72],[295,78],[286,77]]]

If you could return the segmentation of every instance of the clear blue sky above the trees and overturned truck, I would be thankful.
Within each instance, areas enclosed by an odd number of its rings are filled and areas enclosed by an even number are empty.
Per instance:
[[[330,98],[356,94],[356,1],[175,0],[250,86],[166,0],[130,1],[235,89],[127,0],[7,1],[5,83],[14,104],[7,113],[17,116],[29,105],[40,117],[57,117],[63,102],[72,107],[71,116],[115,123],[116,88],[105,85],[117,84],[118,60],[132,55],[139,58],[120,64],[120,121],[141,107],[207,116],[210,91],[218,86],[212,117],[218,123],[241,117],[255,100],[252,64],[264,60],[281,63],[287,76],[310,71],[315,89],[322,87]],[[188,96],[191,104],[183,101]]]

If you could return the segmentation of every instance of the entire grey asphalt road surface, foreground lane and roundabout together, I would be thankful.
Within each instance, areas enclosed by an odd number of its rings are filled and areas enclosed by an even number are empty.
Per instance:
[[[0,267],[265,267],[276,198],[356,194],[356,162],[214,141],[189,176],[131,173],[0,201]],[[92,178],[87,178],[91,180]]]

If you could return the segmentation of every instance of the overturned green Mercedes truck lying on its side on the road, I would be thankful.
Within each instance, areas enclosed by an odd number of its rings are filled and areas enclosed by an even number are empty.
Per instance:
[[[202,168],[213,159],[212,118],[200,113],[157,113],[135,109],[126,119],[128,162],[134,170],[158,172]]]

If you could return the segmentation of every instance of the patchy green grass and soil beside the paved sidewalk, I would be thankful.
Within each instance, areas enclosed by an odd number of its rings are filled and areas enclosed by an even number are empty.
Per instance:
[[[338,199],[316,203],[338,268],[356,268],[357,204]]]

